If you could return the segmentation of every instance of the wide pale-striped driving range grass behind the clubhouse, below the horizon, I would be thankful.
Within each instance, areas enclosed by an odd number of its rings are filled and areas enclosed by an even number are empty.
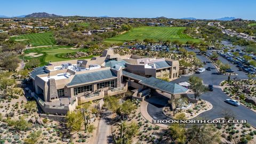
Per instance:
[[[130,31],[122,35],[118,35],[112,38],[108,38],[105,40],[107,43],[120,43],[125,42],[126,40],[134,40],[139,39],[143,41],[145,38],[153,38],[156,41],[158,39],[162,39],[166,41],[170,39],[171,41],[179,40],[180,42],[199,42],[199,39],[192,38],[186,34],[183,34],[183,30],[186,27],[139,27],[139,28],[132,28]]]

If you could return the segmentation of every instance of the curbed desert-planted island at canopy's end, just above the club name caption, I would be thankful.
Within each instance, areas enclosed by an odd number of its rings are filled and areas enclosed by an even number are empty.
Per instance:
[[[178,114],[185,114],[187,119],[194,118],[198,116],[199,114],[204,113],[205,111],[212,109],[212,104],[205,100],[198,100],[197,103],[188,103],[186,107],[179,108],[178,110],[175,110],[175,115]],[[165,116],[174,118],[173,116],[173,110],[171,108],[170,104],[167,104],[163,108],[163,113]]]

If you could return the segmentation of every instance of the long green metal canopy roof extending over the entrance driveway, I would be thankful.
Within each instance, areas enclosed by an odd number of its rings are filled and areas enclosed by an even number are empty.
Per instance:
[[[129,73],[127,71],[123,71],[123,75],[138,80],[139,84],[146,85],[153,89],[161,90],[171,94],[186,93],[188,91],[186,87],[180,86],[172,82],[166,82],[155,77],[147,78]]]

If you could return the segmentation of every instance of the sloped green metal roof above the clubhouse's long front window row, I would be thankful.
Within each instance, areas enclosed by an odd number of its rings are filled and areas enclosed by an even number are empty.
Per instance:
[[[89,82],[94,82],[94,81],[99,81],[99,80],[114,78],[114,77],[117,77],[117,76],[110,69],[93,71],[91,73],[75,75],[74,78],[71,80],[71,82],[67,84],[67,86],[89,83]]]

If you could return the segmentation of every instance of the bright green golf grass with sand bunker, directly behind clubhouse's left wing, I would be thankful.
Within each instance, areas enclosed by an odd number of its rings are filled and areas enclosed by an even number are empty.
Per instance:
[[[70,60],[69,58],[62,58],[62,55],[66,53],[72,53],[72,52],[77,52],[77,51],[83,51],[87,52],[87,49],[70,49],[70,46],[50,46],[50,47],[38,47],[34,49],[27,49],[24,51],[25,53],[25,59],[26,60],[33,60],[33,59],[39,59],[41,61],[41,65],[46,65],[48,62],[55,62],[55,61],[65,61],[65,60]],[[40,57],[30,57],[26,56],[26,54],[29,53],[37,53],[38,54],[43,54]],[[89,59],[92,58],[94,55],[91,55],[90,57],[86,58],[80,58],[80,59]]]

